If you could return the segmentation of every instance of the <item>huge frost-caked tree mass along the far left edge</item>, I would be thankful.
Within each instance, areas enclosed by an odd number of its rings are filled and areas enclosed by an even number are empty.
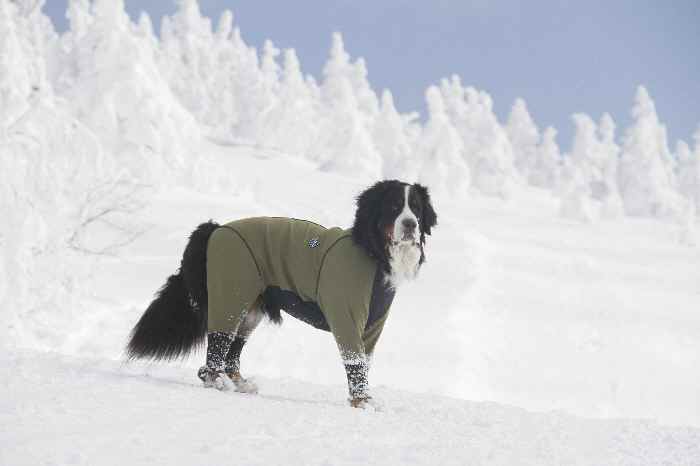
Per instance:
[[[96,135],[72,114],[75,102],[55,98],[46,66],[55,33],[41,4],[0,2],[0,19],[21,31],[10,57],[26,79],[14,84],[22,111],[0,131],[0,300],[8,309],[0,338],[56,350],[69,345],[61,321],[84,312],[85,255],[126,239],[122,188],[135,186],[115,176]],[[110,234],[115,242],[99,239]]]

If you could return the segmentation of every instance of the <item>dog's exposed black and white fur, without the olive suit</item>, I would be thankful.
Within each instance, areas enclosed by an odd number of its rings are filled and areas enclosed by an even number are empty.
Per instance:
[[[382,292],[384,297],[378,300],[385,308],[384,313],[388,311],[395,289],[418,274],[425,261],[425,235],[429,235],[436,224],[437,215],[428,190],[420,184],[385,180],[358,196],[351,239],[359,246],[355,248],[358,254],[366,253],[376,261],[377,272],[374,274],[375,285],[372,289],[385,290]],[[286,309],[284,303],[266,303],[267,293],[262,293],[241,318],[235,334],[207,334],[207,244],[213,232],[220,227],[208,222],[192,233],[180,269],[168,278],[134,327],[127,346],[127,356],[130,359],[175,359],[201,345],[206,336],[207,365],[199,373],[205,384],[225,387],[223,377],[219,377],[219,373],[225,373],[238,391],[254,393],[257,388],[251,381],[241,377],[239,370],[245,342],[263,315],[276,323],[281,322],[280,307],[295,317],[299,315]],[[377,285],[378,277],[381,286]],[[386,290],[390,292],[388,301]],[[316,303],[306,304],[309,305],[309,312],[316,309],[318,315],[325,314],[325,311],[319,312],[322,310]],[[370,317],[366,317],[367,328],[373,312],[370,311]],[[299,318],[309,322],[303,316]],[[329,330],[325,322],[312,325]],[[215,369],[219,367],[217,364],[220,364],[219,369]],[[345,364],[351,405],[362,406],[369,400],[365,391],[367,368],[348,362]]]

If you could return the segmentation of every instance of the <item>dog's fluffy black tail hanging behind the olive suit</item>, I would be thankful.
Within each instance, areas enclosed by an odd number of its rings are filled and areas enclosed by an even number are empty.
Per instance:
[[[171,275],[131,331],[129,359],[186,356],[207,333],[207,243],[219,227],[202,223],[190,235],[180,269]]]

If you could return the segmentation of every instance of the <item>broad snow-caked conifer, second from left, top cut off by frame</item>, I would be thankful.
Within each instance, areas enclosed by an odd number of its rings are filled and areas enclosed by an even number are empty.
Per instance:
[[[163,174],[189,176],[184,154],[199,128],[163,79],[153,38],[130,21],[121,0],[97,0],[91,14],[89,21],[82,16],[84,34],[64,42],[61,94],[135,177],[168,184],[174,177]]]

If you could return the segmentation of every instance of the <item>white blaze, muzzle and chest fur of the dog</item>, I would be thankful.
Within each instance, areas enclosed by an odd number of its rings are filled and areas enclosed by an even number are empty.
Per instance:
[[[389,246],[391,274],[387,277],[387,281],[392,288],[397,288],[402,283],[412,280],[418,274],[420,223],[408,204],[410,190],[410,185],[405,187],[403,210],[394,220],[394,241]],[[415,238],[412,241],[401,240],[404,234],[403,221],[406,219],[412,219],[416,222]]]

